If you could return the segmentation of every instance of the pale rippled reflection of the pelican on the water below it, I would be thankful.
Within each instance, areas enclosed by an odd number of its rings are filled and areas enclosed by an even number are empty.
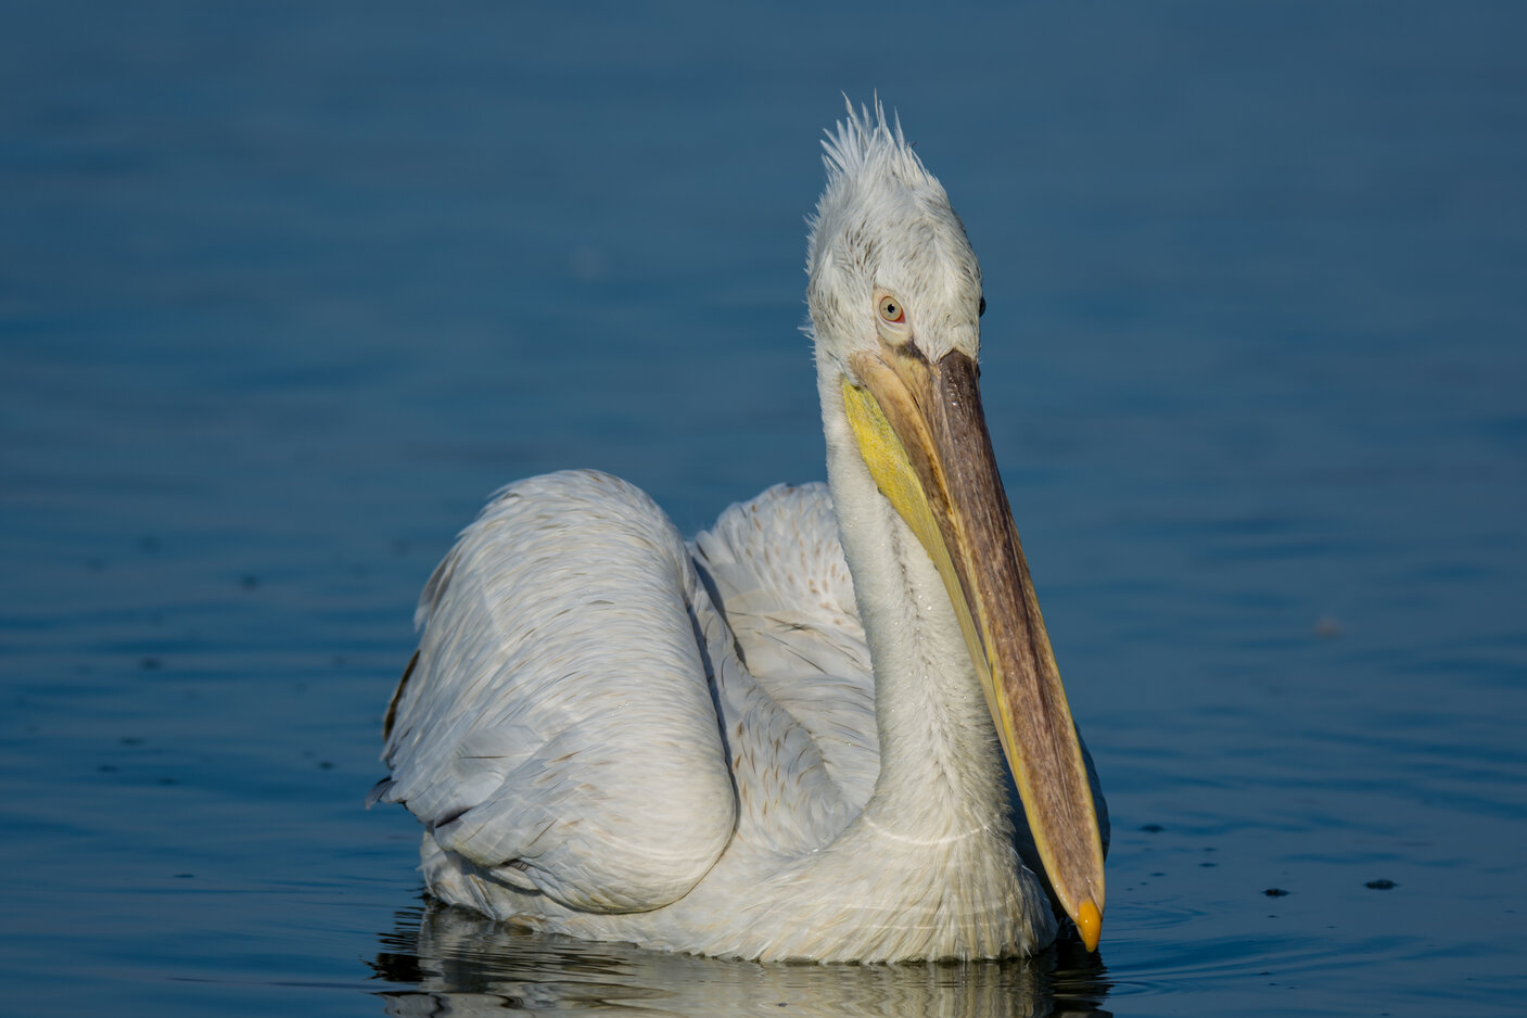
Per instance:
[[[722,962],[534,934],[428,902],[397,913],[373,962],[388,1015],[1106,1015],[1106,969],[1061,942],[1028,962]]]

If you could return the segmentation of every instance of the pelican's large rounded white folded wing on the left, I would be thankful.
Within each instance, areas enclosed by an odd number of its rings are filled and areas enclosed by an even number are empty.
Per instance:
[[[683,540],[632,485],[567,472],[504,488],[420,600],[377,798],[570,908],[681,897],[738,810],[696,598]]]

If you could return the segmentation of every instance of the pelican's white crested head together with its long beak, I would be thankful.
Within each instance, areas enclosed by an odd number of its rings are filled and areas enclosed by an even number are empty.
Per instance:
[[[829,443],[837,426],[938,568],[973,665],[951,665],[950,681],[973,672],[980,684],[1046,876],[1093,949],[1102,847],[980,406],[980,266],[944,188],[878,102],[873,119],[849,105],[825,148],[808,304],[823,404],[841,406],[825,411],[838,418]]]

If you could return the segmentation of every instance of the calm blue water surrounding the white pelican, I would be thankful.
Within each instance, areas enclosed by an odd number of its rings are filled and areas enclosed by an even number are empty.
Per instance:
[[[3,23],[3,1010],[1521,1012],[1527,8]],[[418,588],[530,473],[686,531],[822,476],[802,220],[875,89],[982,256],[1101,954],[426,914],[412,820],[360,809]]]

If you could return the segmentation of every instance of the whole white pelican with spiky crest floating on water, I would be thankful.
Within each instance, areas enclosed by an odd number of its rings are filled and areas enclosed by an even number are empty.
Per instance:
[[[533,929],[994,958],[1058,908],[1095,949],[1107,820],[986,433],[976,255],[878,99],[823,148],[828,482],[687,543],[605,473],[502,488],[423,591],[371,801],[425,824],[435,897]]]

